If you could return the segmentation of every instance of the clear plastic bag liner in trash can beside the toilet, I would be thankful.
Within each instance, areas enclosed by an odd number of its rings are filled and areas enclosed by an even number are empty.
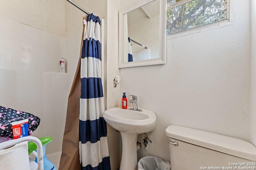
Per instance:
[[[170,163],[155,156],[145,156],[138,162],[138,170],[170,170]]]

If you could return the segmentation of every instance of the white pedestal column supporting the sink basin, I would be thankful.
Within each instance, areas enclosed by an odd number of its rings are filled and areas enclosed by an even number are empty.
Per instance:
[[[120,170],[137,170],[137,139],[138,134],[121,133],[122,137],[122,158]]]

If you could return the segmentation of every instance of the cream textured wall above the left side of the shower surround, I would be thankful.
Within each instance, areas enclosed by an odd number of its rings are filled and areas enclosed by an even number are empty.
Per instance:
[[[0,16],[64,37],[64,0],[0,0]]]

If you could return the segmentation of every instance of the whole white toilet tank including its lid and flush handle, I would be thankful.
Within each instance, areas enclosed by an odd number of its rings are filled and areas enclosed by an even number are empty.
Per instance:
[[[166,135],[171,170],[256,168],[256,148],[246,141],[175,125]]]

